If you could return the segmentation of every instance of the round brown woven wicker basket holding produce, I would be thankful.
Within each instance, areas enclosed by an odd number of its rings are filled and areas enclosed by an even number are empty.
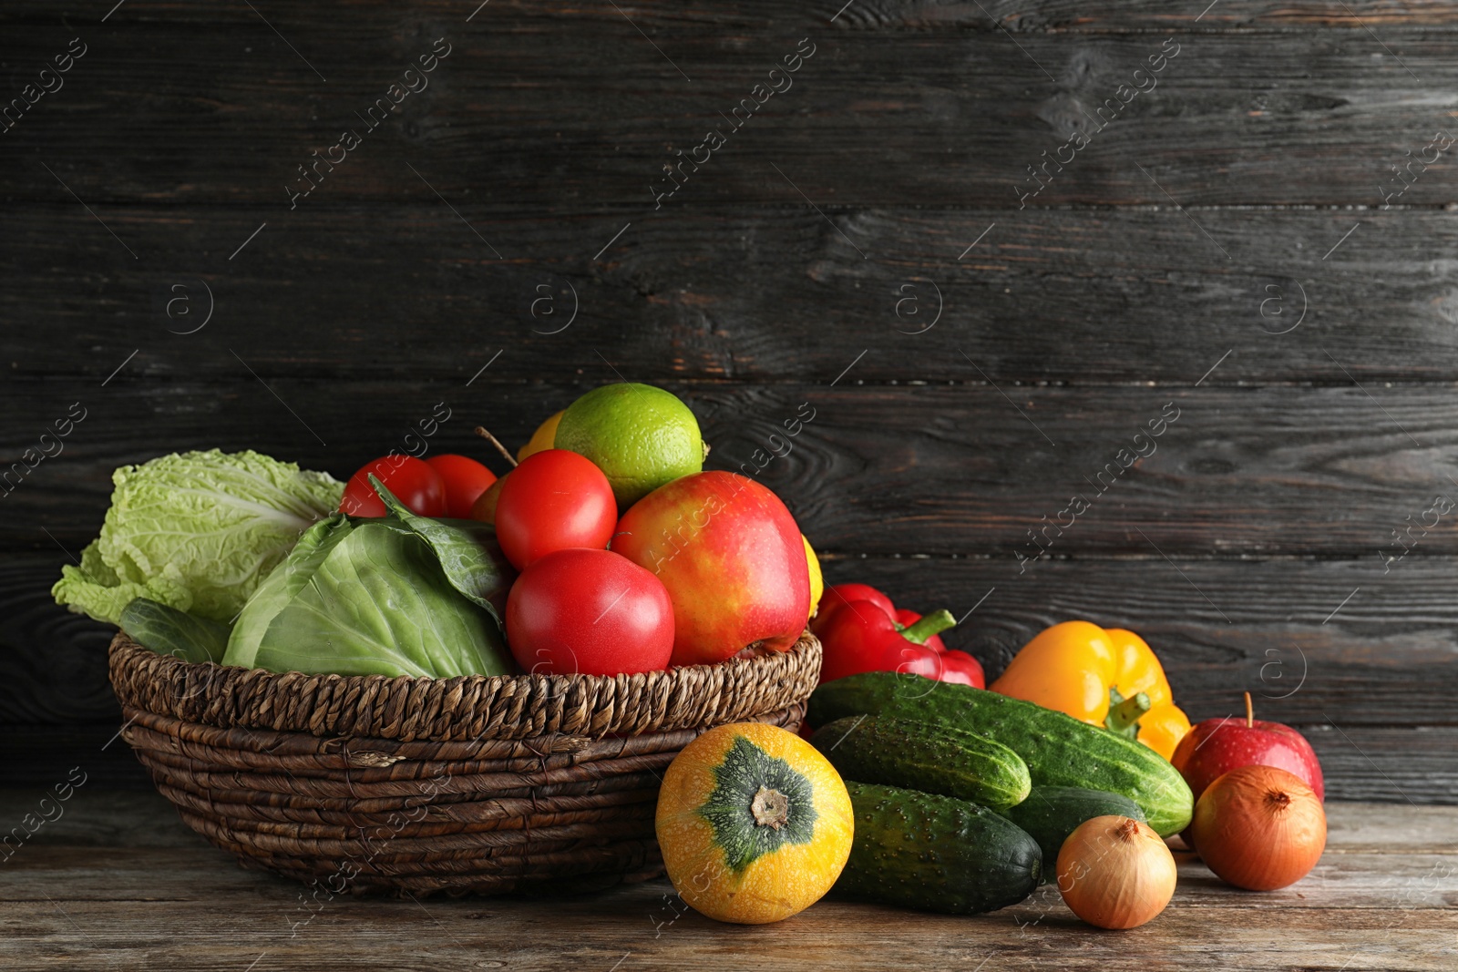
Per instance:
[[[590,890],[662,873],[662,771],[713,726],[795,730],[793,650],[599,678],[276,675],[111,643],[122,730],[182,820],[330,893]]]

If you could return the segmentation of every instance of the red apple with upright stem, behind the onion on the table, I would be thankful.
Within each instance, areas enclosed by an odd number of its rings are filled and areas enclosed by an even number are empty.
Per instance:
[[[1321,764],[1306,737],[1290,726],[1252,718],[1251,694],[1245,694],[1245,716],[1207,718],[1175,746],[1169,762],[1190,784],[1198,800],[1204,788],[1238,767],[1277,767],[1293,772],[1325,800]]]

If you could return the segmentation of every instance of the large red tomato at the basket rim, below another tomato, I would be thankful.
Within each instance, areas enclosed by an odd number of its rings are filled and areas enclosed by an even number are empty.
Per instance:
[[[535,675],[655,672],[674,653],[674,605],[663,581],[621,554],[560,549],[532,561],[512,584],[506,641]]]

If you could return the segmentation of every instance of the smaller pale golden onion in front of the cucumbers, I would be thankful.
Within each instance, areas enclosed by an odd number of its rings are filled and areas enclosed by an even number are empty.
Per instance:
[[[1147,823],[1096,816],[1063,841],[1059,893],[1091,925],[1137,928],[1174,896],[1175,858]]]

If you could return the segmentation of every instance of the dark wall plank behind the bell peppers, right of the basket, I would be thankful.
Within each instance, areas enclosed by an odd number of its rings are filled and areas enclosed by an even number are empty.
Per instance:
[[[1443,701],[1458,691],[1458,619],[1446,606],[1452,564],[1414,561],[1387,581],[1365,571],[1362,564],[1309,560],[1060,560],[1024,574],[990,560],[825,564],[827,583],[870,583],[898,605],[945,606],[964,618],[943,641],[977,657],[990,678],[1060,621],[1130,628],[1159,654],[1191,718],[1244,713],[1241,694],[1250,691],[1263,718],[1325,726],[1322,745],[1334,756],[1344,740],[1331,723],[1347,732],[1454,724]],[[1398,753],[1410,745],[1424,748],[1392,737],[1382,749]],[[1458,752],[1443,753],[1443,745],[1446,739],[1433,739],[1424,750],[1451,778]],[[1360,771],[1357,753],[1349,755],[1346,767]]]

